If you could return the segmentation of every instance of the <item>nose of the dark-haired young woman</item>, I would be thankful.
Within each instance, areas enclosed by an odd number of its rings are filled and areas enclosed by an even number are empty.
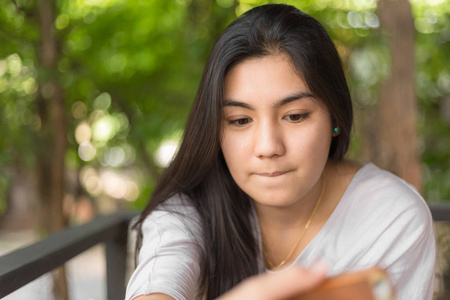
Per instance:
[[[285,154],[283,136],[277,124],[264,122],[257,126],[254,134],[255,156],[273,158]]]

